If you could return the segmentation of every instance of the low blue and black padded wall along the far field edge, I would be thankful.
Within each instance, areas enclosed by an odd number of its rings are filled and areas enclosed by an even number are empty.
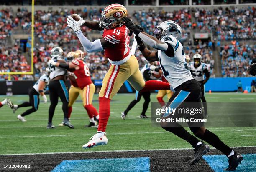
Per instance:
[[[251,81],[256,80],[256,77],[223,77],[223,78],[210,78],[209,81],[205,84],[205,91],[209,92],[234,92],[237,90],[237,83],[241,80],[243,90],[247,86],[251,87]],[[96,90],[100,89],[102,85],[102,80],[93,81],[96,86]],[[12,81],[12,85],[7,86],[6,81],[0,81],[0,95],[6,95],[8,88],[11,88],[13,95],[23,95],[28,94],[28,91],[34,85],[35,81]],[[67,81],[67,85],[70,87],[70,82]],[[129,93],[135,92],[133,87],[129,82],[125,82],[119,90],[119,93]]]

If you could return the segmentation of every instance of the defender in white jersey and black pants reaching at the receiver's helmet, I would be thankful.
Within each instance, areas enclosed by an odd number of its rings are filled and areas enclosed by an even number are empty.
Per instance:
[[[139,50],[141,50],[143,56],[151,62],[159,61],[164,77],[169,83],[172,83],[175,92],[166,107],[174,109],[182,105],[183,108],[186,108],[189,103],[184,105],[182,102],[201,102],[202,92],[200,84],[192,77],[189,71],[189,64],[185,60],[183,46],[179,42],[179,39],[182,37],[181,27],[172,20],[165,21],[156,27],[156,30],[153,33],[154,36],[152,36],[139,30],[129,18],[123,17],[122,20],[123,24],[136,34],[137,42],[140,42],[138,40],[142,40],[147,45],[158,50],[148,50],[143,42],[138,43],[140,46]],[[200,103],[197,103],[197,108],[198,105],[200,105]],[[166,113],[162,117],[170,117],[169,115],[169,113]],[[191,117],[190,114],[187,115],[188,117]],[[199,115],[197,114],[197,116]],[[209,145],[206,145],[202,140],[210,143],[228,157],[229,165],[227,170],[235,170],[238,164],[243,160],[243,157],[240,154],[225,145],[217,135],[205,129],[203,122],[197,123],[196,127],[194,123],[187,122],[190,130],[195,136],[202,139],[201,141],[187,132],[187,130],[177,122],[170,122],[172,125],[171,127],[166,127],[166,123],[161,123],[161,126],[165,130],[186,140],[195,148],[195,155],[189,162],[190,165],[198,162],[198,160],[200,160],[200,158],[210,149]]]

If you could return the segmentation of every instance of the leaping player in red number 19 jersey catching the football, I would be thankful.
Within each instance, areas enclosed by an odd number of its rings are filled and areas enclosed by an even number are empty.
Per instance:
[[[105,130],[110,116],[110,100],[118,92],[125,80],[128,80],[135,90],[144,92],[149,90],[170,89],[169,83],[150,80],[145,82],[138,68],[138,61],[131,55],[129,49],[129,30],[121,24],[121,19],[128,15],[126,8],[120,4],[108,5],[103,11],[100,21],[85,21],[80,18],[75,21],[71,16],[67,18],[68,27],[77,34],[79,41],[87,52],[105,51],[111,64],[105,75],[99,93],[99,127],[98,132],[83,148],[105,145],[108,139]],[[80,29],[85,25],[93,30],[104,30],[102,39],[94,42],[85,37]]]

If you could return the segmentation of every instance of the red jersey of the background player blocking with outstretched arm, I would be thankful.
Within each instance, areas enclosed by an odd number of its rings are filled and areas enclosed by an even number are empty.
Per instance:
[[[85,86],[92,83],[91,77],[90,77],[90,71],[86,63],[82,60],[72,60],[72,63],[74,65],[79,66],[79,69],[74,70],[74,77],[77,81],[78,87],[83,89]]]

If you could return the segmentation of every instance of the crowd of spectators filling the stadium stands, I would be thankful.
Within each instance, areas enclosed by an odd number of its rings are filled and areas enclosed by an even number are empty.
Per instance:
[[[68,10],[65,8],[59,8],[56,11],[35,11],[35,46],[34,46],[34,72],[36,75],[41,74],[45,70],[46,62],[50,58],[50,50],[54,46],[63,47],[64,54],[67,55],[69,51],[75,51],[82,49],[77,36],[66,25],[67,15],[77,13],[87,20],[99,20],[102,8],[84,8],[81,10]],[[15,14],[15,15],[13,15]],[[254,7],[243,7],[243,8],[225,8],[219,7],[214,10],[207,9],[180,9],[172,12],[160,10],[156,12],[154,9],[134,11],[131,15],[138,20],[139,24],[145,29],[146,32],[152,34],[156,25],[165,20],[174,20],[180,24],[183,29],[183,37],[181,42],[186,45],[184,51],[191,58],[194,53],[198,52],[202,55],[202,61],[210,64],[211,76],[214,77],[214,59],[212,57],[212,51],[215,50],[215,43],[212,41],[201,42],[200,40],[192,45],[190,38],[191,30],[195,32],[200,30],[202,32],[211,32],[215,35],[217,46],[220,46],[222,40],[239,40],[239,39],[252,39],[256,38],[255,29],[255,8]],[[235,17],[234,17],[235,16]],[[192,17],[195,18],[195,22],[192,22]],[[29,71],[30,66],[27,64],[26,58],[22,53],[15,55],[14,50],[17,45],[12,48],[7,48],[5,45],[6,37],[10,36],[13,32],[20,31],[20,28],[24,33],[31,32],[31,12],[28,12],[26,8],[18,9],[16,12],[10,9],[0,10],[0,45],[1,45],[1,62],[0,70],[2,72],[8,71]],[[82,27],[85,34],[90,37],[90,33],[93,33],[87,27]],[[132,42],[132,41],[131,41]],[[19,44],[18,44],[19,45]],[[20,45],[21,47],[23,45]],[[222,57],[222,73],[223,76],[234,77],[234,76],[248,76],[247,68],[249,59],[255,58],[251,55],[244,56],[236,53],[233,56],[228,56],[234,45],[225,45],[221,47]],[[239,45],[240,47],[242,45]],[[26,45],[28,51],[31,45]],[[228,47],[228,48],[227,48]],[[236,47],[236,48],[238,48]],[[248,47],[248,46],[247,46]],[[8,58],[6,58],[5,49],[9,49]],[[246,50],[251,54],[254,49],[248,47]],[[249,50],[248,50],[249,49]],[[224,51],[223,51],[224,50]],[[239,55],[236,57],[236,55]],[[241,58],[241,57],[243,58]],[[136,50],[136,57],[142,67],[144,64],[144,57],[141,53]],[[232,57],[232,59],[231,59]],[[2,60],[2,58],[5,58]],[[6,60],[8,59],[8,60]],[[239,60],[238,60],[239,59]],[[86,54],[86,62],[90,66],[93,79],[102,79],[105,75],[109,62],[104,56],[104,53],[88,53]],[[237,65],[237,66],[236,66]],[[19,66],[19,67],[18,67]],[[238,67],[239,66],[239,67]],[[233,71],[234,70],[234,71]],[[24,77],[25,76],[25,77]],[[7,76],[0,76],[0,79],[6,78]],[[16,77],[18,80],[31,79],[26,75],[20,75]],[[17,80],[17,79],[16,79]]]

